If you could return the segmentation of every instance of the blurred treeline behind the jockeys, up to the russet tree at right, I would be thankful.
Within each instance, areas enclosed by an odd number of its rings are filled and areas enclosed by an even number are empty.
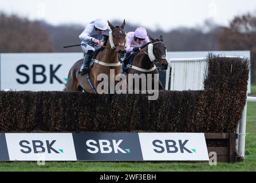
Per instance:
[[[121,21],[113,21],[120,25]],[[53,26],[42,21],[29,21],[16,15],[0,14],[0,53],[8,52],[74,52],[80,47],[63,49],[63,46],[80,43],[78,35],[86,25]],[[127,22],[125,31],[135,31],[139,25]],[[170,51],[219,50],[216,34],[219,27],[203,33],[200,29],[180,27],[169,32],[147,29],[151,37],[164,36],[164,42]]]

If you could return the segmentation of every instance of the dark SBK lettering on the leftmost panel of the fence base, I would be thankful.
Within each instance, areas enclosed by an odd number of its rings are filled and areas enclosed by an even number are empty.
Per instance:
[[[20,149],[21,152],[25,154],[31,153],[32,150],[35,154],[45,153],[45,152],[48,152],[49,154],[50,153],[59,154],[60,152],[64,153],[63,149],[56,150],[52,147],[55,142],[56,140],[53,140],[53,141],[46,140],[44,144],[44,142],[40,140],[32,140],[31,143],[29,141],[22,140],[19,142],[19,145],[23,148],[23,149]]]

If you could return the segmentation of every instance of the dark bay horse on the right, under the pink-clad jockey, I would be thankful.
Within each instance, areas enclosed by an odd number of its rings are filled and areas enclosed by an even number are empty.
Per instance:
[[[167,49],[166,45],[164,45],[163,43],[163,35],[160,36],[160,39],[153,39],[150,36],[149,38],[151,42],[141,47],[139,53],[134,56],[127,74],[159,74],[159,70],[155,66],[155,63],[156,65],[160,65],[160,68],[162,70],[166,70],[168,68]],[[158,83],[159,89],[164,90],[164,87],[160,80],[158,81]]]

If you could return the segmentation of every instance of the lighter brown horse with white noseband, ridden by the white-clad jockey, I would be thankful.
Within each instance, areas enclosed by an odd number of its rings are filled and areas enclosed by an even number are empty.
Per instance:
[[[112,31],[109,31],[109,38],[104,50],[101,50],[94,59],[94,65],[89,70],[89,78],[92,85],[88,82],[88,74],[78,74],[83,59],[78,60],[69,70],[68,82],[66,83],[66,92],[76,92],[85,90],[88,93],[97,93],[97,81],[99,74],[107,74],[110,70],[115,70],[115,75],[121,73],[121,64],[119,62],[119,53],[125,53],[126,34],[124,32],[125,20],[121,26],[113,26],[109,21],[108,25]],[[115,78],[114,78],[115,79]]]

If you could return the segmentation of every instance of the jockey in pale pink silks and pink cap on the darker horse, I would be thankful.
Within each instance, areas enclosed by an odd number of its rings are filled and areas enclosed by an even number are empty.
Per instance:
[[[140,47],[150,42],[147,35],[147,30],[144,27],[137,27],[135,32],[127,33],[127,38],[128,38],[128,44],[125,49],[127,51],[127,54],[125,55],[125,58],[124,58],[124,68],[123,68],[125,72],[128,70],[126,65],[128,64],[127,58],[129,57],[129,55],[131,55],[136,51],[139,51]]]

